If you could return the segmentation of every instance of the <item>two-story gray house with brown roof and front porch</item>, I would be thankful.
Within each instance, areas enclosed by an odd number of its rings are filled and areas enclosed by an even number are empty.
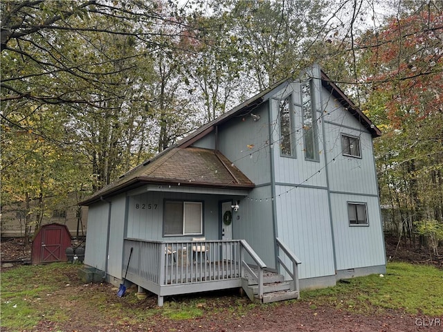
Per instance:
[[[251,299],[385,273],[372,138],[314,66],[96,192],[85,264],[163,297],[243,287]],[[269,284],[272,283],[272,284]]]

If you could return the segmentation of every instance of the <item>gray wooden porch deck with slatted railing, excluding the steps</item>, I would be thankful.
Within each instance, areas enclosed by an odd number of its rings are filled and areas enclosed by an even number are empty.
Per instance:
[[[168,295],[242,287],[242,261],[248,254],[242,240],[125,239],[122,270],[131,248],[134,251],[127,280],[158,295],[160,306],[163,297]]]

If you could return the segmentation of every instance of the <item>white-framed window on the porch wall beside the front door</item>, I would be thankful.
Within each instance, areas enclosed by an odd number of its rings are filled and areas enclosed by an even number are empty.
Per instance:
[[[165,201],[163,234],[165,236],[203,234],[203,203]]]

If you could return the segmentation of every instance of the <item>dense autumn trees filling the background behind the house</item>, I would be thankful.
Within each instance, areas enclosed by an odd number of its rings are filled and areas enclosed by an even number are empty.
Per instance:
[[[2,204],[41,196],[37,222],[60,188],[100,190],[318,62],[385,133],[381,201],[412,239],[442,221],[442,3],[397,1],[381,25],[375,3],[3,1]]]

